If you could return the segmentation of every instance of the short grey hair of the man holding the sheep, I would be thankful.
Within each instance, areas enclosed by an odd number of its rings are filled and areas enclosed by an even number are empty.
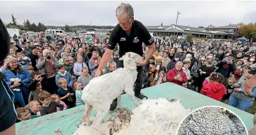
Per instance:
[[[132,17],[134,16],[132,5],[125,4],[125,3],[122,3],[121,5],[119,5],[116,8],[116,16],[122,15],[123,13],[127,14],[127,19],[132,19]]]

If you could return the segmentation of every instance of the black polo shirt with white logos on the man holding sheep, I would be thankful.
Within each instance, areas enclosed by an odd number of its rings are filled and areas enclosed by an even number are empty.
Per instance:
[[[126,32],[119,24],[116,25],[110,34],[108,49],[114,50],[116,44],[118,43],[119,57],[122,57],[124,53],[129,51],[143,56],[142,42],[149,46],[154,43],[154,39],[151,37],[148,30],[141,22],[134,20],[130,36],[127,36]]]

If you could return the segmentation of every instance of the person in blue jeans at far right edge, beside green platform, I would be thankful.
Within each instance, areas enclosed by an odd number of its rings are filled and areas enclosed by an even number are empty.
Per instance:
[[[241,77],[233,86],[233,93],[229,98],[229,105],[248,112],[256,97],[255,88],[256,68],[251,68],[246,77]],[[251,89],[246,89],[251,84]]]

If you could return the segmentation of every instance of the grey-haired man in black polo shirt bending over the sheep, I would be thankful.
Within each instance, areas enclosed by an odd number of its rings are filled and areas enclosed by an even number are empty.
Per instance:
[[[95,77],[101,75],[101,70],[108,63],[110,57],[112,57],[113,50],[116,44],[119,44],[119,57],[122,57],[125,53],[131,51],[143,56],[142,42],[147,45],[148,53],[144,61],[137,61],[137,79],[135,82],[134,93],[137,98],[144,99],[147,96],[141,94],[141,88],[143,85],[143,65],[148,63],[155,51],[154,39],[146,27],[139,21],[134,20],[133,7],[130,4],[122,3],[116,8],[116,18],[119,24],[113,29],[109,37],[108,49],[102,56],[101,63],[95,71]],[[123,61],[119,60],[117,68],[123,68]],[[117,99],[115,99],[110,107],[110,110],[114,110],[117,106]]]

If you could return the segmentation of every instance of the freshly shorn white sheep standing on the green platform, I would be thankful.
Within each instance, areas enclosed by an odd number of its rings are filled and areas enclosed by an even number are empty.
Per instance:
[[[94,127],[101,123],[114,99],[117,98],[117,108],[120,108],[120,95],[123,91],[130,96],[137,106],[133,84],[137,79],[136,61],[143,60],[143,57],[139,56],[139,54],[128,52],[119,60],[123,60],[124,68],[118,68],[113,72],[92,79],[82,91],[82,101],[86,104],[82,120],[86,125],[89,125],[89,116],[92,108],[97,112],[92,123]]]

